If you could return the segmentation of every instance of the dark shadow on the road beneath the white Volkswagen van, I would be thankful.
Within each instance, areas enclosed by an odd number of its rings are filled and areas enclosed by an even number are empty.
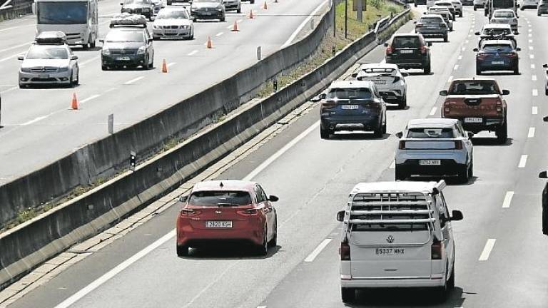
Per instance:
[[[432,297],[429,289],[369,289],[357,292],[355,302],[346,307],[462,307],[466,294],[461,287],[455,287],[445,302]]]

